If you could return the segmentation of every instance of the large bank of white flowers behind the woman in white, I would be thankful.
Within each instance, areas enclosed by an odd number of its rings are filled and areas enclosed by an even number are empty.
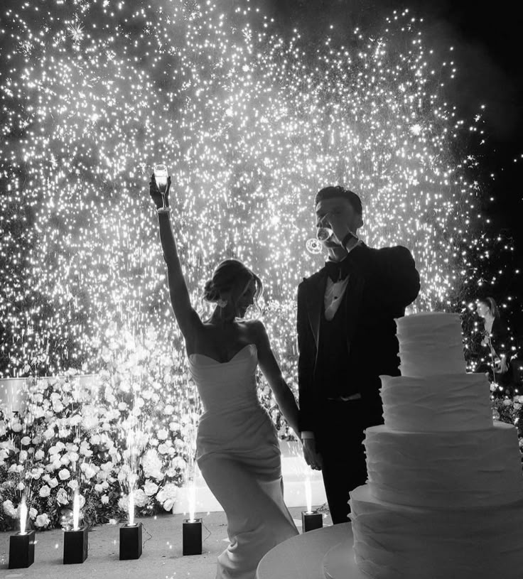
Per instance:
[[[159,342],[153,330],[136,338],[111,325],[98,374],[30,377],[22,411],[0,406],[0,530],[18,526],[24,495],[40,530],[70,526],[75,492],[87,526],[126,520],[131,491],[138,514],[171,512],[194,476],[200,401],[185,358]],[[269,386],[259,394],[292,438]]]

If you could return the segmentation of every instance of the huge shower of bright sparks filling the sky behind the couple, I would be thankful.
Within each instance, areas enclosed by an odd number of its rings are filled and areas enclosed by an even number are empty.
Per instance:
[[[11,3],[13,4],[13,3]],[[404,244],[421,272],[416,307],[451,308],[473,281],[478,183],[446,102],[451,52],[425,48],[408,11],[345,46],[281,38],[254,4],[48,0],[4,4],[0,38],[4,376],[99,369],[115,324],[148,328],[183,365],[156,213],[154,163],[171,167],[174,229],[193,304],[218,261],[262,277],[264,322],[295,370],[298,282],[321,264],[312,200],[357,191],[362,239]],[[466,138],[466,137],[465,137]]]

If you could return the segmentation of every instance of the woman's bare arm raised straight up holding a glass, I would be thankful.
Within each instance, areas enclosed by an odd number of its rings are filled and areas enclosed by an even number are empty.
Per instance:
[[[167,190],[165,194],[165,205],[168,211],[158,211],[158,223],[160,225],[160,240],[163,249],[163,259],[167,264],[169,293],[171,294],[171,303],[173,305],[176,321],[185,338],[185,342],[193,342],[196,332],[200,330],[202,320],[190,303],[189,292],[185,278],[183,277],[180,257],[176,248],[173,227],[171,226],[171,207],[169,207],[169,191],[171,190],[171,177],[167,181]],[[156,210],[163,207],[163,200],[154,174],[151,176],[149,183],[149,193],[156,205]]]

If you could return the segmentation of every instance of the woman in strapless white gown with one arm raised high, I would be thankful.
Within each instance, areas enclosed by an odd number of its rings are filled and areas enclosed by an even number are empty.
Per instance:
[[[160,209],[154,175],[149,188]],[[169,177],[167,207],[170,188]],[[284,504],[276,430],[257,397],[258,364],[296,433],[298,407],[264,325],[243,319],[262,293],[259,277],[241,261],[222,261],[205,284],[205,299],[217,306],[210,319],[202,321],[190,304],[170,210],[158,212],[158,222],[171,303],[204,408],[196,443],[198,466],[227,515],[230,544],[218,557],[216,578],[254,579],[265,553],[298,534]]]

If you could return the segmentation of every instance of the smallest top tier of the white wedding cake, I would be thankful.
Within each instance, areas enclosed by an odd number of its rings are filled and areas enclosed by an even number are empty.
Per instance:
[[[402,376],[465,372],[457,313],[417,313],[396,320]]]

